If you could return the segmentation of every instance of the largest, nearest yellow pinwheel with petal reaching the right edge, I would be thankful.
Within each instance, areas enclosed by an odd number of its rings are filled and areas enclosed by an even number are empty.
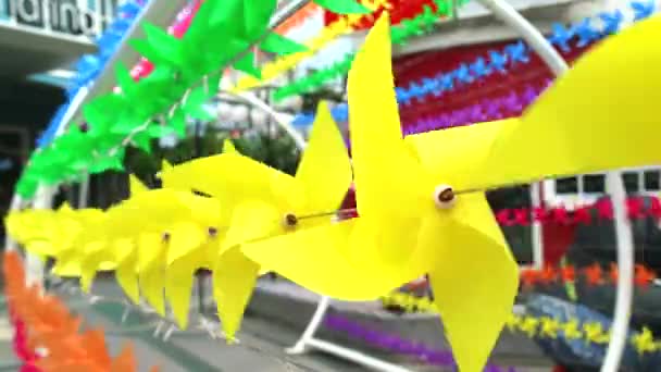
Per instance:
[[[361,216],[248,245],[244,252],[299,284],[345,299],[357,297],[361,286],[342,289],[346,283],[336,283],[338,275],[329,271],[340,272],[342,264],[384,280],[429,272],[460,370],[479,371],[511,311],[517,283],[484,190],[659,162],[661,127],[639,97],[659,96],[652,83],[661,82],[661,73],[645,66],[661,62],[661,53],[645,42],[661,34],[661,21],[646,21],[604,41],[520,120],[406,140],[397,120],[386,26],[384,18],[376,24],[349,76]],[[349,224],[352,228],[342,227]],[[316,249],[310,249],[313,241]],[[325,266],[314,264],[321,261]]]

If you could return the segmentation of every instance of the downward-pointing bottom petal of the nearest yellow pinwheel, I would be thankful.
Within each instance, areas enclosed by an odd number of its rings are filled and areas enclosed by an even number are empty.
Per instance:
[[[517,265],[484,195],[462,195],[439,213],[426,218],[420,244],[459,369],[479,372],[512,312]]]

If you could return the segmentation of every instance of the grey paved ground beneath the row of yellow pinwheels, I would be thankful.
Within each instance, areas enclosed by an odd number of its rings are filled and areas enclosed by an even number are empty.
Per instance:
[[[119,292],[112,283],[95,286],[97,294],[119,298]],[[240,344],[234,346],[227,346],[223,339],[212,339],[199,328],[186,333],[175,332],[167,342],[163,342],[153,337],[153,317],[134,312],[122,324],[124,307],[120,302],[101,301],[90,306],[82,300],[79,295],[63,295],[63,298],[72,309],[85,317],[88,324],[105,330],[113,355],[126,343],[133,343],[140,371],[146,371],[152,364],[161,365],[163,372],[366,371],[353,363],[320,352],[295,357],[285,354],[284,349],[296,342],[298,334],[273,321],[248,315],[239,334]],[[2,369],[2,364],[13,361],[11,330],[7,324],[3,325],[2,310],[0,302],[0,371],[16,371],[15,365]],[[442,371],[415,364],[406,367],[414,371]],[[517,368],[517,371],[546,372],[549,368]]]

